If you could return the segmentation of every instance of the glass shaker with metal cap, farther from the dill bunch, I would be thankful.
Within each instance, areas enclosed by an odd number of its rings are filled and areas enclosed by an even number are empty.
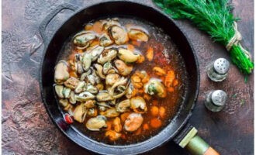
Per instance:
[[[212,112],[220,112],[223,109],[225,102],[227,100],[227,94],[225,91],[216,90],[210,91],[206,95],[206,108]]]

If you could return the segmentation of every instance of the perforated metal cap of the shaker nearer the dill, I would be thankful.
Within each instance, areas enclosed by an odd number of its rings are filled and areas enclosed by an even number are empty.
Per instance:
[[[219,74],[226,74],[230,68],[230,62],[225,58],[219,58],[214,61],[213,67]]]

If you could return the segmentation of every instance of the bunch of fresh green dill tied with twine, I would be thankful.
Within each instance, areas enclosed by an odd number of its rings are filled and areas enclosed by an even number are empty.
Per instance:
[[[208,33],[214,41],[230,51],[230,59],[243,74],[251,74],[254,64],[251,54],[240,45],[229,0],[153,0],[173,19],[189,19],[199,29]]]

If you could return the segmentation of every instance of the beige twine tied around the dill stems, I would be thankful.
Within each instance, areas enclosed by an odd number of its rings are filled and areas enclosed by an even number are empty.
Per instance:
[[[240,47],[240,49],[243,51],[244,55],[251,60],[251,53],[249,53],[247,50],[242,47],[240,44],[240,41],[242,40],[242,35],[237,29],[237,22],[234,22],[234,36],[230,39],[230,41],[227,43],[227,50],[230,51],[234,45],[237,45]]]

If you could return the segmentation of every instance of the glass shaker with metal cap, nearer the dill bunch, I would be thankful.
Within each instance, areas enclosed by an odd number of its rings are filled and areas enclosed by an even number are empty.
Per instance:
[[[225,58],[219,58],[207,67],[207,75],[212,81],[223,81],[229,68],[230,62]]]

